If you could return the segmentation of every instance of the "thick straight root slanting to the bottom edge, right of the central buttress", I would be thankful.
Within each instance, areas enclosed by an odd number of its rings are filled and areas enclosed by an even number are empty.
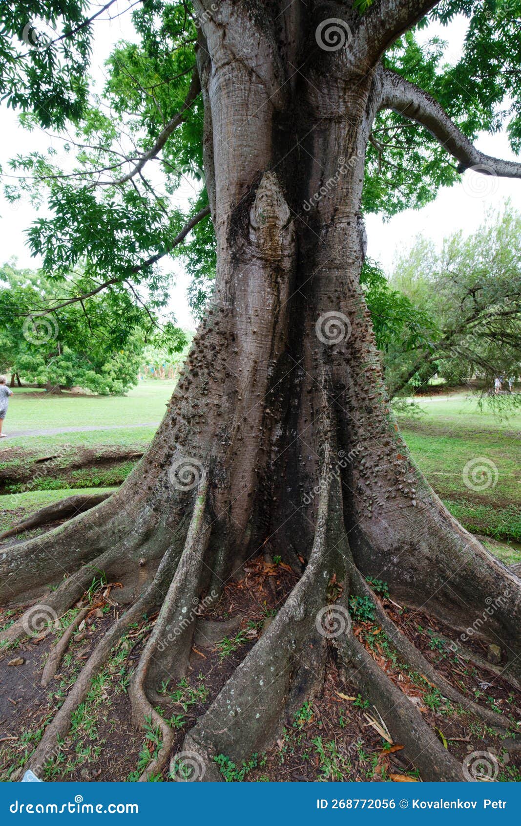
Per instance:
[[[404,744],[407,757],[422,778],[429,781],[464,780],[457,760],[443,748],[409,698],[394,686],[353,634],[348,634],[339,648],[349,677],[377,706],[392,738],[396,743]]]

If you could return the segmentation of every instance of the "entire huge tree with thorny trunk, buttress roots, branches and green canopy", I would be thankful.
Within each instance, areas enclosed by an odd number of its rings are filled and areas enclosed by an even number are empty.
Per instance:
[[[50,0],[29,6],[36,8],[41,17],[59,10]],[[160,771],[175,734],[159,714],[158,686],[186,672],[187,607],[220,592],[269,543],[299,580],[183,749],[205,762],[207,778],[214,755],[240,761],[260,751],[320,687],[335,648],[421,776],[462,779],[456,757],[358,643],[346,619],[349,597],[374,603],[415,671],[501,724],[434,671],[366,577],[386,580],[394,599],[422,605],[454,629],[490,594],[508,592],[482,629],[483,638],[500,638],[507,675],[521,663],[521,582],[452,519],[400,439],[359,283],[362,211],[420,206],[469,167],[521,177],[521,164],[471,143],[509,117],[519,148],[519,4],[145,0],[133,12],[140,45],[116,49],[98,100],[86,96],[84,64],[73,68],[67,51],[84,50],[90,24],[79,7],[68,12],[47,64],[32,55],[17,64],[19,87],[6,47],[7,101],[26,109],[27,126],[64,130],[71,154],[66,172],[37,151],[12,161],[21,189],[40,188],[53,211],[32,225],[32,249],[56,276],[84,261],[96,284],[90,292],[118,292],[131,278],[160,294],[168,284],[155,265],[211,215],[216,278],[185,373],[135,472],[92,512],[2,553],[4,599],[40,594],[42,570],[49,582],[66,571],[45,596],[61,614],[95,566],[124,582],[120,600],[129,604],[31,766],[68,731],[121,634],[160,607],[130,686],[136,723],[148,718],[162,737],[144,778]],[[414,39],[429,12],[445,23],[457,13],[469,21],[455,67],[443,64],[438,41],[420,47]],[[16,41],[26,11],[2,15]],[[206,189],[188,210],[174,207],[170,193],[186,175],[202,183],[201,169]],[[196,234],[192,254],[198,240],[211,245],[210,235]],[[313,490],[320,495],[305,496]],[[320,625],[334,615],[343,633]],[[26,621],[8,629],[7,641]]]

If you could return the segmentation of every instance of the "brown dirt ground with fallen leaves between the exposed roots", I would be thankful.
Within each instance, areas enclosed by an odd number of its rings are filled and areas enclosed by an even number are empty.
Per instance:
[[[244,569],[241,579],[226,586],[216,605],[201,611],[186,679],[159,686],[163,716],[178,733],[173,753],[268,628],[295,582],[289,567],[259,556]],[[117,590],[117,583],[93,583],[83,600],[59,619],[58,627],[0,655],[0,780],[20,776],[45,724],[118,615]],[[487,665],[481,643],[468,649],[468,656],[480,662],[478,666],[452,650],[451,634],[438,621],[397,606],[386,596],[381,599],[392,619],[448,681],[476,702],[499,711],[505,727],[516,729],[521,693],[490,670],[493,667]],[[54,680],[43,688],[41,673],[51,646],[86,606],[90,609],[87,618],[73,634]],[[20,612],[4,610],[0,624],[11,624]],[[160,738],[147,721],[144,729],[132,725],[127,689],[154,622],[155,615],[144,616],[116,646],[107,667],[92,681],[87,700],[73,714],[68,737],[50,756],[45,780],[138,779]],[[417,706],[446,748],[460,760],[471,752],[491,752],[497,764],[496,780],[520,779],[521,753],[514,736],[488,728],[446,700],[424,677],[411,673],[363,610],[353,610],[353,628],[359,643]],[[320,695],[303,698],[301,708],[285,721],[276,743],[266,752],[252,755],[242,765],[235,765],[228,755],[218,755],[223,780],[419,781],[412,756],[392,741],[378,710],[343,675],[334,648],[329,651],[323,685]],[[154,779],[171,778],[165,770]]]

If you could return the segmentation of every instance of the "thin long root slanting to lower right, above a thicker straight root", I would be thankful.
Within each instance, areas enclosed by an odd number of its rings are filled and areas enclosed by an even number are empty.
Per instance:
[[[489,725],[504,730],[508,728],[501,714],[496,714],[495,711],[477,705],[477,703],[472,702],[472,700],[468,700],[461,691],[458,691],[457,688],[452,686],[451,683],[431,665],[429,660],[405,637],[405,634],[401,633],[392,619],[388,617],[386,610],[381,606],[380,602],[375,599],[371,588],[367,585],[360,572],[353,566],[350,568],[350,582],[353,583],[353,591],[355,593],[358,593],[360,596],[371,597],[381,628],[391,639],[391,643],[393,643],[396,651],[403,658],[404,662],[408,663],[415,672],[426,677],[448,700],[462,705],[462,707],[471,714],[475,714],[476,717],[481,717],[481,719],[485,720],[485,723]]]

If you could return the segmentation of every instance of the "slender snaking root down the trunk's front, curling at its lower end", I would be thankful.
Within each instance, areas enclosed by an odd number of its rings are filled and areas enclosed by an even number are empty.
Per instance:
[[[197,491],[192,521],[188,528],[182,556],[159,611],[154,631],[144,647],[134,679],[130,684],[129,695],[135,724],[140,726],[144,719],[149,718],[154,726],[159,726],[162,734],[161,748],[140,776],[140,781],[148,781],[151,776],[163,771],[176,736],[173,729],[154,709],[149,697],[154,698],[153,702],[156,705],[159,696],[153,687],[146,684],[147,681],[152,681],[153,685],[157,682],[157,679],[151,680],[150,678],[156,677],[159,653],[165,650],[168,651],[170,666],[168,676],[178,680],[186,672],[194,631],[194,623],[187,619],[188,612],[199,590],[201,567],[210,535],[209,520],[205,513],[207,492],[208,481],[205,474]]]

